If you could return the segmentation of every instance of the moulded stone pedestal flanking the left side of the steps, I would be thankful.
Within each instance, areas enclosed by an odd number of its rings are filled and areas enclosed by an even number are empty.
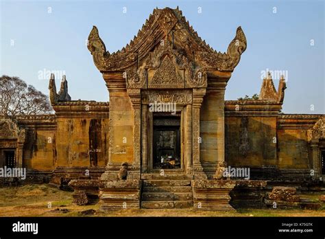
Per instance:
[[[142,181],[108,180],[99,187],[101,210],[140,208]]]

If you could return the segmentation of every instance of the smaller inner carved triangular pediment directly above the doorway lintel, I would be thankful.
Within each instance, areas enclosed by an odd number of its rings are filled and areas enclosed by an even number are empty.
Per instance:
[[[127,87],[134,89],[201,88],[207,86],[206,68],[193,65],[182,51],[173,48],[169,39],[139,62],[138,69],[126,71]]]

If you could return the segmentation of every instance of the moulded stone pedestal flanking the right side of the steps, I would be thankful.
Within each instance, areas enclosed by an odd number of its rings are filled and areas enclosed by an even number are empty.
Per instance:
[[[229,204],[230,191],[236,183],[230,180],[193,180],[193,201],[197,210],[234,211]]]

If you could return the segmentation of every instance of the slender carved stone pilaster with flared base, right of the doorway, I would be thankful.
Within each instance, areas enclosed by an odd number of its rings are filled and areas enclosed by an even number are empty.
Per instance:
[[[192,128],[193,128],[193,171],[194,179],[207,179],[200,161],[200,107],[206,89],[193,89],[193,109],[192,109]]]

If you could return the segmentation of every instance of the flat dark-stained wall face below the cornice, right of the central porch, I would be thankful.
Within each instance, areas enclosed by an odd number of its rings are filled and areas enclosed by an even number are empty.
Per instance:
[[[226,116],[225,132],[229,166],[276,165],[276,117]]]

